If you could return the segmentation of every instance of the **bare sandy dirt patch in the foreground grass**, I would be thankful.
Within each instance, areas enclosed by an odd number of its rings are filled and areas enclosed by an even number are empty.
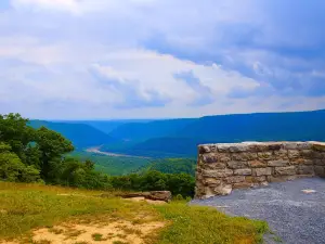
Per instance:
[[[35,230],[30,237],[1,244],[142,244],[147,243],[164,228],[164,222],[136,223],[118,220],[109,222],[62,223],[52,228]]]

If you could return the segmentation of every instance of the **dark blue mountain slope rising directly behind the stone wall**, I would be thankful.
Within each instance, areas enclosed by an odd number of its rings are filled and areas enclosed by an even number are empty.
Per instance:
[[[325,110],[295,113],[261,113],[208,116],[187,125],[178,137],[214,142],[325,141]]]

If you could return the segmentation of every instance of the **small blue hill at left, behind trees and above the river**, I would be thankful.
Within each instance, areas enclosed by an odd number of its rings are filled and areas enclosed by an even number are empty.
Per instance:
[[[69,139],[74,145],[81,150],[89,146],[116,143],[117,139],[98,130],[89,125],[77,123],[51,123],[44,120],[30,120],[29,125],[34,128],[44,126],[55,130]]]

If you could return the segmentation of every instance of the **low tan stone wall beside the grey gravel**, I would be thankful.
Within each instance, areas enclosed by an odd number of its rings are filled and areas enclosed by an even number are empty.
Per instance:
[[[226,195],[233,189],[325,176],[325,143],[243,142],[198,146],[195,194]]]

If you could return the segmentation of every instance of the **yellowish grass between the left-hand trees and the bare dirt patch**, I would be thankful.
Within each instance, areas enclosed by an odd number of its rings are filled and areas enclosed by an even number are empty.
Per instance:
[[[102,192],[38,184],[0,182],[0,239],[13,237],[69,218],[108,215],[135,218],[136,211],[157,214],[150,207],[117,197],[98,197]]]

